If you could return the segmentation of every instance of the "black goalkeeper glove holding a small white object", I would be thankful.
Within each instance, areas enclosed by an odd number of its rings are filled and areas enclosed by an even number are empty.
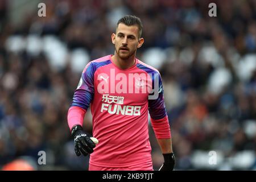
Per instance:
[[[93,148],[96,147],[96,145],[90,139],[89,135],[82,130],[80,125],[73,126],[71,134],[74,138],[75,152],[77,156],[80,156],[81,153],[84,156],[92,154]]]

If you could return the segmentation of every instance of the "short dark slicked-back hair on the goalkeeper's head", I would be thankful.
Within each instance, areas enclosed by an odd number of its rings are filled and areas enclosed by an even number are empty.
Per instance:
[[[121,19],[118,20],[117,26],[118,26],[119,23],[123,23],[126,26],[137,25],[138,28],[139,28],[138,35],[139,35],[139,38],[141,38],[143,25],[142,25],[142,22],[141,22],[140,18],[138,18],[135,15],[125,15]]]

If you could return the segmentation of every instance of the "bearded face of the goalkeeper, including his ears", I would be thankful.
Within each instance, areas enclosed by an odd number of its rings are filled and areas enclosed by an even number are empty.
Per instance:
[[[115,34],[112,34],[112,43],[115,45],[115,52],[123,59],[135,55],[137,48],[141,47],[143,38],[138,38],[138,26],[126,26],[118,24]]]

